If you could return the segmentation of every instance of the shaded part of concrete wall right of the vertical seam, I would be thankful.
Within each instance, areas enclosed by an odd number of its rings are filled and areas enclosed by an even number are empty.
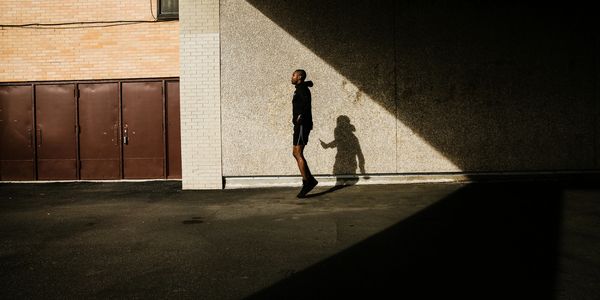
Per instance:
[[[593,168],[598,52],[585,9],[400,5],[398,119],[464,171]]]

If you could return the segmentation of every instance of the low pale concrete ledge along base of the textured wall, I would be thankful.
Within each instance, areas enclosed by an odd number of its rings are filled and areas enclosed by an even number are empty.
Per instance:
[[[372,175],[324,175],[315,176],[319,186],[367,185],[367,184],[414,184],[491,182],[515,180],[586,180],[600,177],[599,170],[540,171],[540,172],[488,172],[488,173],[419,173],[419,174],[372,174]],[[225,177],[225,189],[299,187],[300,176]]]

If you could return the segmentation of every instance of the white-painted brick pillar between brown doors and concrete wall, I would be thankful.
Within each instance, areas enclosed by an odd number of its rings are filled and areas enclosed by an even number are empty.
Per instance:
[[[221,189],[218,0],[180,0],[183,189]]]

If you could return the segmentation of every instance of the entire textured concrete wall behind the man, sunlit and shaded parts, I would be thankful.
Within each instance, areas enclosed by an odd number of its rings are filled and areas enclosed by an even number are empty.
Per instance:
[[[597,168],[590,11],[223,0],[223,174],[297,174],[295,68],[315,82],[315,173],[359,173],[359,149],[367,173]],[[324,149],[339,116],[344,149]]]

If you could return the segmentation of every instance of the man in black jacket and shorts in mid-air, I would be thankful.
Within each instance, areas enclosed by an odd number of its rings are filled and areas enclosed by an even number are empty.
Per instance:
[[[311,96],[310,90],[312,81],[304,81],[306,72],[304,70],[296,70],[292,73],[292,84],[296,86],[294,97],[292,99],[293,113],[292,123],[294,124],[294,149],[293,154],[298,169],[302,175],[302,189],[298,193],[298,198],[306,197],[317,183],[319,183],[310,173],[306,158],[304,158],[304,146],[308,143],[308,136],[312,130],[312,111],[311,111]]]

